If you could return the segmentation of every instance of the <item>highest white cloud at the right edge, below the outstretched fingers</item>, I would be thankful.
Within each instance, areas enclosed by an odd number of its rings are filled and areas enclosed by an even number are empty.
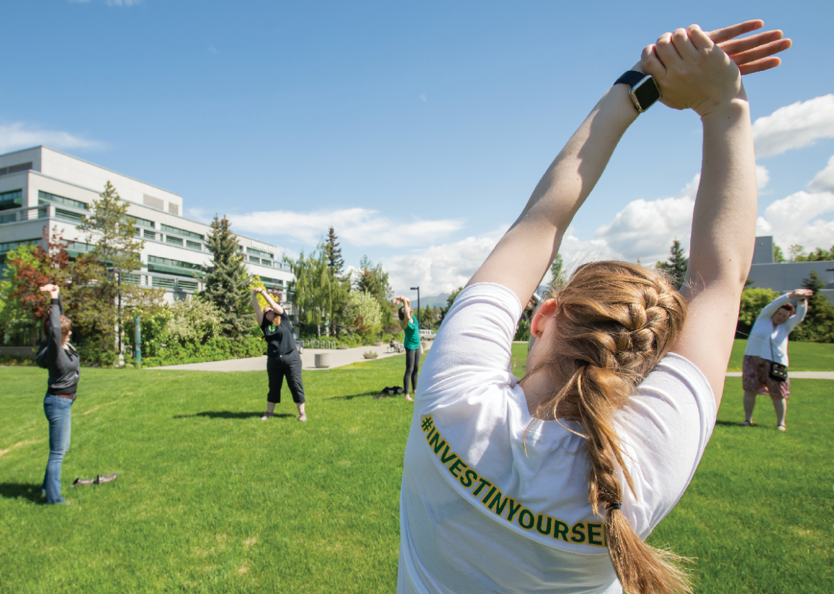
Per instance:
[[[834,94],[786,105],[753,123],[757,159],[802,148],[819,138],[834,138]]]

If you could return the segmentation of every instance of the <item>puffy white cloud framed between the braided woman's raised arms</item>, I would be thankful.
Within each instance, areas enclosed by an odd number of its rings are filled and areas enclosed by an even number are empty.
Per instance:
[[[666,259],[672,239],[689,249],[692,209],[701,175],[696,175],[678,198],[633,200],[614,220],[596,230],[595,237],[626,259],[655,262]]]

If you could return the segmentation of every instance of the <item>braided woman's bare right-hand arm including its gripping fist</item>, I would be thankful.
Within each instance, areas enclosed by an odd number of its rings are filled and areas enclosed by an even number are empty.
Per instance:
[[[696,25],[661,36],[644,50],[643,64],[661,101],[701,115],[701,184],[681,289],[688,314],[672,351],[698,366],[720,403],[756,236],[750,107],[736,63]]]

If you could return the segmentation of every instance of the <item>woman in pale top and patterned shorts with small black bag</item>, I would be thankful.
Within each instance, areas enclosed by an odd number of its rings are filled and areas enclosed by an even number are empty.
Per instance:
[[[744,362],[741,365],[745,416],[742,425],[753,424],[753,408],[758,393],[770,395],[773,409],[776,410],[776,429],[786,430],[785,414],[787,399],[791,397],[791,380],[771,378],[771,364],[778,363],[787,367],[787,335],[805,320],[808,297],[812,294],[814,292],[811,289],[794,289],[772,300],[756,318],[747,338]],[[792,299],[799,300],[798,311],[791,304]]]

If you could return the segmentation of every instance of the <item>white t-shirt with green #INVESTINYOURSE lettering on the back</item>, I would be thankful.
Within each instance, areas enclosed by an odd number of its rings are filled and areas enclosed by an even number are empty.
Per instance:
[[[584,439],[530,417],[511,373],[520,315],[510,289],[474,284],[426,356],[405,447],[399,594],[622,591],[590,511]],[[709,383],[680,355],[615,416],[637,492],[625,487],[622,512],[642,538],[683,495],[715,420]]]

